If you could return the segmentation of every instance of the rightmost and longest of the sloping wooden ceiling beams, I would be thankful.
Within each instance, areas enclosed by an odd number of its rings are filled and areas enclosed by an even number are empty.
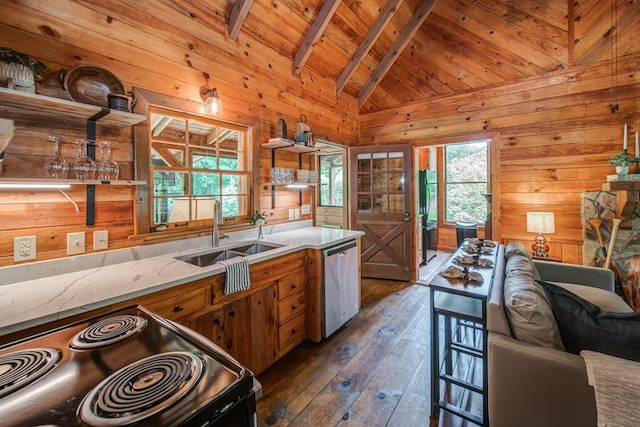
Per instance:
[[[360,89],[360,93],[358,94],[358,107],[362,108],[362,105],[369,99],[371,93],[376,88],[380,80],[387,74],[395,60],[402,53],[404,48],[407,46],[413,35],[418,31],[420,26],[424,23],[427,16],[431,13],[433,8],[436,5],[437,0],[424,0],[420,8],[416,11],[416,14],[411,18],[411,21],[402,33],[400,33],[400,37],[393,43],[391,49],[387,52],[387,54],[382,58],[380,64],[376,67],[375,71],[369,77],[369,80],[362,86]]]

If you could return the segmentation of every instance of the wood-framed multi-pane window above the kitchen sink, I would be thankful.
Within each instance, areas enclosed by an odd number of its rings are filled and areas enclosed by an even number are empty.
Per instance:
[[[219,200],[225,223],[250,212],[248,129],[205,117],[151,110],[153,227],[210,223]]]

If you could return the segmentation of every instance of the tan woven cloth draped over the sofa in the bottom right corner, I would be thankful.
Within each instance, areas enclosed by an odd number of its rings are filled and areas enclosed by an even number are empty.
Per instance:
[[[598,427],[637,426],[640,363],[589,350],[580,355],[596,395]]]

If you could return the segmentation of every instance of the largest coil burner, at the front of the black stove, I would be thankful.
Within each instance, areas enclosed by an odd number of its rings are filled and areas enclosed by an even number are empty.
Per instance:
[[[116,371],[80,405],[80,417],[94,427],[139,422],[169,408],[198,383],[200,357],[188,352],[160,353]]]

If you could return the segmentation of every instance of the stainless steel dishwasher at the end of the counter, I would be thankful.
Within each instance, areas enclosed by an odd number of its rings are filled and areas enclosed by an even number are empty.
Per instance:
[[[327,338],[360,310],[359,250],[355,240],[322,251],[324,313],[322,337]]]

